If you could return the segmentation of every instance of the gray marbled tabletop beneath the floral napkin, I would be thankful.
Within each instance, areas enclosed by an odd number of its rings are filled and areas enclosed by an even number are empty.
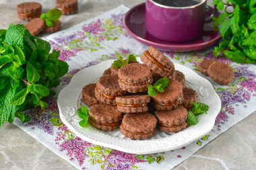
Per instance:
[[[0,29],[9,24],[24,24],[16,16],[15,5],[24,0],[0,0]],[[55,7],[53,0],[38,1],[43,12]],[[121,4],[127,7],[141,0],[79,1],[79,15],[75,19],[61,17],[63,28],[100,15]],[[256,169],[256,112],[232,126],[174,169]],[[171,160],[170,160],[171,161]],[[49,148],[13,124],[0,128],[0,169],[75,169]]]

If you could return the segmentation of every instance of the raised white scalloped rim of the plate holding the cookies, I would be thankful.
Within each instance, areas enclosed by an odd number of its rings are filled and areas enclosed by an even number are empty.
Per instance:
[[[76,77],[79,77],[79,75],[81,75],[83,72],[86,72],[86,69],[93,69],[94,67],[99,67],[100,64],[104,65],[106,63],[112,63],[113,60],[106,60],[104,62],[100,62],[98,65],[94,65],[92,67],[87,67],[85,69],[82,69],[81,71],[77,72],[75,75],[73,75],[70,83],[65,86],[63,89],[61,89],[59,95],[58,95],[58,99],[57,99],[57,104],[58,104],[58,108],[59,108],[59,115],[60,115],[60,118],[61,120],[63,121],[63,123],[68,127],[70,128],[77,136],[79,136],[80,138],[88,141],[88,142],[91,142],[93,144],[98,144],[98,145],[101,145],[101,146],[106,146],[106,147],[110,147],[110,148],[114,148],[116,150],[119,150],[119,151],[123,151],[123,152],[126,152],[126,153],[133,153],[133,154],[150,154],[150,153],[158,153],[158,152],[163,152],[163,151],[170,151],[170,150],[174,150],[174,149],[177,149],[177,148],[181,148],[183,146],[187,146],[188,144],[190,144],[191,142],[195,141],[195,140],[198,140],[199,138],[205,136],[205,134],[209,133],[212,128],[214,127],[214,122],[216,120],[216,117],[218,116],[218,113],[219,112],[214,112],[214,114],[212,116],[214,116],[214,118],[210,119],[212,120],[212,122],[209,122],[208,125],[207,125],[207,130],[205,130],[205,132],[203,132],[201,135],[197,136],[196,138],[193,138],[193,140],[187,140],[187,142],[183,142],[183,144],[179,144],[175,147],[172,147],[172,148],[162,148],[162,146],[160,148],[157,148],[157,149],[154,149],[154,150],[137,150],[137,149],[131,149],[131,148],[125,148],[125,147],[122,147],[122,146],[119,146],[118,144],[113,144],[113,142],[102,142],[100,140],[95,140],[92,138],[92,136],[84,136],[83,134],[81,134],[80,132],[78,132],[75,128],[75,126],[73,127],[72,125],[70,125],[70,123],[68,122],[68,120],[72,120],[72,118],[67,118],[66,116],[63,115],[63,109],[61,108],[61,95],[63,95],[63,93],[65,93],[67,91],[67,89],[69,89],[69,87],[71,87],[73,85],[73,83],[75,83],[75,79],[77,79]],[[108,64],[110,65],[110,64]],[[174,65],[179,65],[179,64],[174,64]],[[185,67],[183,65],[179,65],[179,67]],[[195,73],[195,71],[191,70],[189,67],[185,67],[186,69],[189,69],[189,71],[192,71],[193,74],[196,74],[197,76],[201,77],[200,75],[198,75],[197,73]],[[213,91],[214,95],[216,95],[216,97],[218,96],[218,94],[216,93],[216,91],[214,91],[214,87],[212,86],[212,84],[207,80],[205,79],[204,77],[201,77],[204,79],[205,82],[207,82],[208,85],[210,85],[211,87],[211,90]],[[78,90],[77,90],[78,91]],[[81,91],[81,89],[79,89],[79,91]],[[80,93],[79,93],[80,94]],[[79,95],[78,95],[79,96]],[[77,97],[78,97],[77,96]],[[216,109],[215,110],[219,110],[220,111],[220,107],[221,107],[221,101],[220,101],[220,97],[218,97],[218,103],[216,103]],[[72,116],[70,116],[72,117]],[[69,120],[69,121],[70,121]],[[74,119],[73,119],[74,120]],[[73,121],[72,120],[72,121]],[[78,124],[78,121],[79,120],[75,120],[76,122],[76,125]],[[192,126],[193,127],[193,126]],[[190,128],[190,127],[189,127]],[[183,132],[183,131],[181,131]],[[179,134],[181,132],[178,132],[178,133],[175,133],[175,134]],[[158,140],[158,139],[156,139]],[[125,140],[126,141],[126,140]],[[137,143],[145,143],[145,141],[147,142],[152,142],[152,140],[131,140],[131,142],[137,142]],[[158,140],[160,141],[160,140]],[[164,138],[162,139],[162,141],[165,141]],[[156,141],[157,142],[157,141]],[[171,142],[171,141],[169,141]]]

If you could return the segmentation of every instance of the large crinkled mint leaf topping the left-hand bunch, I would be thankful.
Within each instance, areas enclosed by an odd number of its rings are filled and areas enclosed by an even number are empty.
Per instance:
[[[10,46],[18,46],[22,50],[24,49],[23,37],[25,34],[25,26],[22,24],[9,25],[9,28],[5,34],[5,42]]]

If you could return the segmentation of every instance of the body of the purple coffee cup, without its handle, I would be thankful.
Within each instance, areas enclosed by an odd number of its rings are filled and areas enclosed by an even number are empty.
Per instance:
[[[203,33],[206,0],[189,7],[170,7],[146,0],[146,29],[168,42],[188,42]]]

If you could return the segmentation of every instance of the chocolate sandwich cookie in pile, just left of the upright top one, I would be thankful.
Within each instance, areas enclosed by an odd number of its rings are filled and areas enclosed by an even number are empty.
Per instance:
[[[103,75],[96,83],[95,97],[102,103],[116,105],[115,97],[125,93],[126,91],[119,87],[118,77],[115,75]]]

